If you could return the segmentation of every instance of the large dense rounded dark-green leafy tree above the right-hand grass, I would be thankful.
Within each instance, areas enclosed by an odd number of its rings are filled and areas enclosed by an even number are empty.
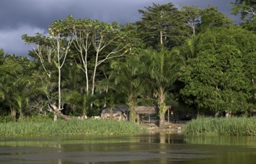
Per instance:
[[[213,28],[198,36],[196,57],[181,69],[180,90],[198,112],[247,112],[252,104],[255,35],[235,26]],[[249,62],[250,59],[250,62]]]

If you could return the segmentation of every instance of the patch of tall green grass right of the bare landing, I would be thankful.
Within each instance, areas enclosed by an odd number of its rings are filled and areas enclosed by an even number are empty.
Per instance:
[[[186,124],[183,133],[196,136],[256,136],[256,117],[194,119]]]

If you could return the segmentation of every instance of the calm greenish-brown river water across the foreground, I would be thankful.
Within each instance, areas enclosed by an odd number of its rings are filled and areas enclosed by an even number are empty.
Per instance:
[[[0,138],[0,163],[256,163],[255,136],[52,136]]]

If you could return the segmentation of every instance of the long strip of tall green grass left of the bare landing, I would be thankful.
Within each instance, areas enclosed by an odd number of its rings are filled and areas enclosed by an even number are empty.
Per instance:
[[[0,123],[0,136],[58,136],[58,135],[127,135],[144,132],[138,124],[114,120],[58,120],[53,122]]]

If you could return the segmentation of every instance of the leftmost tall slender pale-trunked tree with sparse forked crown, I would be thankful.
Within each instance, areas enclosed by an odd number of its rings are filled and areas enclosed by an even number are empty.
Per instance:
[[[58,110],[61,110],[61,68],[64,66],[70,46],[73,42],[73,36],[70,31],[67,31],[67,19],[72,19],[72,16],[67,17],[64,21],[57,20],[49,25],[49,37],[42,34],[37,34],[35,37],[28,37],[26,34],[22,36],[22,40],[31,45],[36,45],[34,53],[37,54],[42,66],[46,72],[45,58],[49,63],[54,63],[58,70]],[[46,54],[44,54],[46,53]],[[45,57],[46,56],[46,57]],[[50,72],[47,75],[51,76]],[[57,119],[55,115],[54,120]]]

